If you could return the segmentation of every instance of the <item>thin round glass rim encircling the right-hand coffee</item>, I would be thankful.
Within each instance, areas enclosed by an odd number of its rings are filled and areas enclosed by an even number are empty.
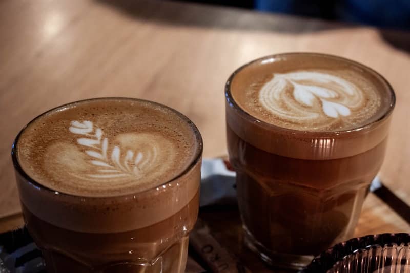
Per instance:
[[[247,111],[245,111],[244,109],[242,109],[238,103],[235,101],[235,99],[232,96],[232,92],[231,92],[231,83],[233,81],[233,79],[235,78],[235,76],[242,71],[244,68],[247,68],[248,66],[255,64],[256,62],[262,62],[262,61],[269,61],[269,62],[274,62],[275,59],[278,59],[280,57],[286,57],[286,56],[294,56],[294,55],[311,55],[311,56],[319,56],[319,57],[325,57],[325,58],[332,58],[332,59],[336,59],[336,60],[340,60],[343,62],[347,62],[348,64],[352,64],[353,66],[362,68],[372,74],[374,74],[381,82],[383,82],[386,87],[388,92],[390,93],[390,104],[386,110],[385,113],[383,113],[383,115],[380,116],[380,118],[378,118],[377,120],[373,120],[372,122],[366,123],[364,125],[361,125],[358,128],[354,128],[354,129],[348,129],[348,130],[340,130],[340,131],[329,131],[329,132],[315,132],[315,131],[302,131],[302,130],[294,130],[294,129],[289,129],[289,128],[284,128],[284,127],[280,127],[274,124],[271,124],[269,122],[260,120],[256,117],[254,117],[253,115],[249,114]],[[394,92],[393,87],[391,86],[391,84],[376,70],[361,64],[360,62],[348,59],[348,58],[344,58],[344,57],[340,57],[340,56],[336,56],[336,55],[332,55],[332,54],[325,54],[325,53],[316,53],[316,52],[287,52],[287,53],[278,53],[278,54],[272,54],[272,55],[267,55],[267,56],[263,56],[254,60],[251,60],[247,63],[245,63],[244,65],[240,66],[239,68],[237,68],[228,78],[226,84],[225,84],[225,97],[226,97],[226,101],[230,104],[230,106],[239,114],[242,115],[245,119],[253,122],[254,124],[258,124],[263,128],[267,128],[267,129],[272,129],[274,131],[282,131],[284,133],[288,133],[291,135],[297,135],[297,134],[304,134],[306,136],[316,136],[316,137],[326,137],[326,136],[337,136],[337,135],[344,135],[344,134],[349,134],[349,133],[353,133],[353,132],[360,132],[366,129],[370,129],[374,126],[374,124],[379,123],[382,120],[387,119],[393,112],[393,109],[396,105],[396,94]]]

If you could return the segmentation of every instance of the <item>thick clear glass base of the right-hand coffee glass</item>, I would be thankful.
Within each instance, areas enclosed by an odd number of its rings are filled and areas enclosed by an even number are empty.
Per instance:
[[[272,267],[300,270],[310,264],[314,258],[312,255],[292,255],[272,251],[258,242],[245,226],[243,229],[244,244]]]

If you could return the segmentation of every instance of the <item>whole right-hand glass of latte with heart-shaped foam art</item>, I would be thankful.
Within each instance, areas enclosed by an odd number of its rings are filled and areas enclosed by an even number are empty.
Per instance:
[[[237,69],[225,95],[245,244],[298,269],[351,238],[383,162],[389,83],[352,60],[288,53]]]

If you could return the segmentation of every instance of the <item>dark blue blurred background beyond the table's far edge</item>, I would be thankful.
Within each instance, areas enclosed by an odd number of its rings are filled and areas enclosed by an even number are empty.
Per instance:
[[[409,0],[185,0],[266,12],[410,29]]]

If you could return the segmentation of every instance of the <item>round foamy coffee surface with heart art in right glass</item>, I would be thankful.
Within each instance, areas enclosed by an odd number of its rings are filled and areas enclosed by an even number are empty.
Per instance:
[[[310,132],[352,130],[381,118],[391,104],[384,81],[351,61],[282,55],[237,71],[232,97],[259,120]]]

